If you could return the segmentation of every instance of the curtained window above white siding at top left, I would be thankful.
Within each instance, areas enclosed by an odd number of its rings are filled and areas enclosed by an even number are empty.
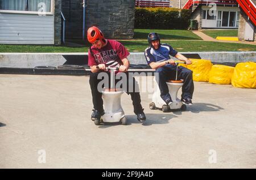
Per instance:
[[[51,12],[53,0],[0,0],[0,10]]]

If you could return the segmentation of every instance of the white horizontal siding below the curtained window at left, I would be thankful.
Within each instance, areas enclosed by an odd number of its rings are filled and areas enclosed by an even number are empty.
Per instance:
[[[0,44],[54,44],[54,16],[0,13]]]

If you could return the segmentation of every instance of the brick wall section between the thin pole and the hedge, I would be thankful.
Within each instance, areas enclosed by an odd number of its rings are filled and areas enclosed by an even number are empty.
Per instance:
[[[86,6],[86,29],[97,25],[106,38],[133,37],[134,0],[89,0]]]

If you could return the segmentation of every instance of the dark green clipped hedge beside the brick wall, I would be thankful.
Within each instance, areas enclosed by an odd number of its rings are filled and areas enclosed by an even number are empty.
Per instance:
[[[135,28],[138,29],[187,29],[190,23],[190,10],[154,7],[136,8]]]

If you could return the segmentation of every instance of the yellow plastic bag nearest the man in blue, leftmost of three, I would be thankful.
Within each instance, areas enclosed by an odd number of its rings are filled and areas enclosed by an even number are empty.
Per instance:
[[[193,71],[193,80],[196,82],[208,82],[209,72],[212,63],[207,59],[191,59],[192,65],[187,65],[189,70]]]

